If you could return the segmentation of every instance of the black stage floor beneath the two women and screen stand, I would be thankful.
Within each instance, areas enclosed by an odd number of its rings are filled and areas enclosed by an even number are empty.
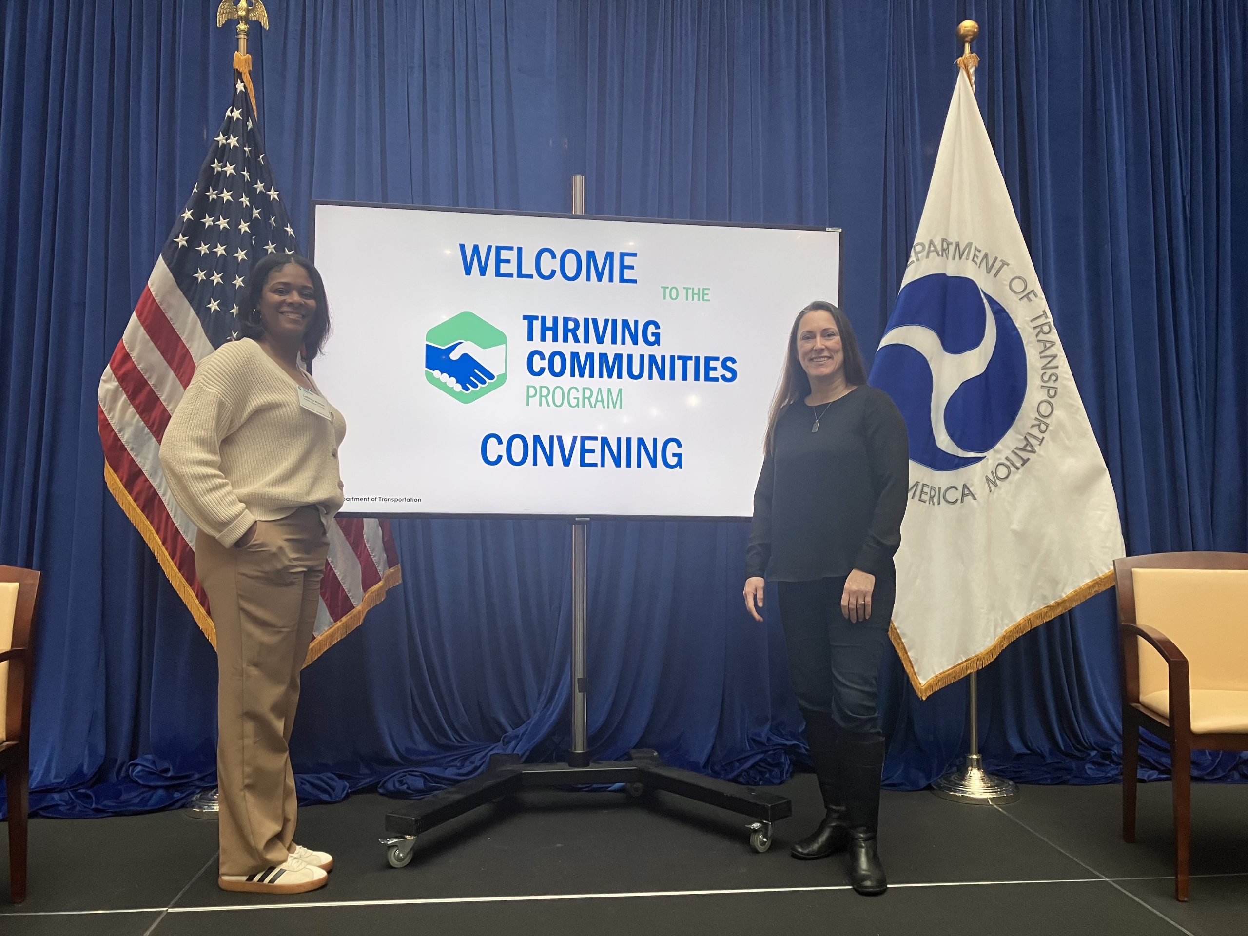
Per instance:
[[[849,890],[840,857],[794,861],[817,821],[814,778],[781,787],[794,817],[754,854],[745,820],[654,794],[525,791],[423,836],[412,864],[377,839],[394,800],[300,811],[298,841],[334,855],[295,897],[216,886],[216,822],[186,812],[31,822],[29,897],[0,934],[1248,934],[1248,786],[1196,785],[1191,902],[1173,899],[1169,784],[1139,791],[1122,841],[1117,786],[1027,786],[1005,807],[885,792],[891,887]]]

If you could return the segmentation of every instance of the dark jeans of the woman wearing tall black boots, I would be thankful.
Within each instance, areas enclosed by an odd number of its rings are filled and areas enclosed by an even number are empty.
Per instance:
[[[797,704],[829,715],[840,731],[879,735],[880,658],[889,643],[894,577],[876,577],[871,617],[857,624],[841,614],[844,578],[778,584]]]

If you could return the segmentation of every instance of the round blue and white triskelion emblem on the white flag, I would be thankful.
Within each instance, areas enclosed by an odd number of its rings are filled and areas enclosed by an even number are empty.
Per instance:
[[[1022,411],[1027,357],[1001,303],[965,276],[905,286],[871,367],[906,418],[910,458],[937,472],[982,462]]]

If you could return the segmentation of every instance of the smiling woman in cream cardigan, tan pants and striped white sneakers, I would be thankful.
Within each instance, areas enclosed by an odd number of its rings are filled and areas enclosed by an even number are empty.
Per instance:
[[[225,890],[300,894],[333,859],[295,844],[288,743],[342,507],[347,426],[303,369],[329,329],[316,267],[271,253],[238,298],[242,337],[203,358],[161,466],[198,528],[195,568],[217,631],[217,786]]]

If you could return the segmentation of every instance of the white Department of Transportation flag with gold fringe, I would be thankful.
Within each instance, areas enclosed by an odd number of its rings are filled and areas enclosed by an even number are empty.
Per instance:
[[[892,641],[919,695],[1112,584],[1092,434],[967,74],[870,382],[910,436]]]

